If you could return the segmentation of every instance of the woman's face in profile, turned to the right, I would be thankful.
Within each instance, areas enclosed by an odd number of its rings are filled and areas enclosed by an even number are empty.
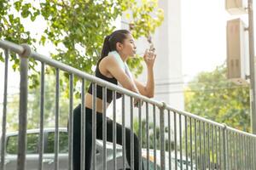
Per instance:
[[[119,47],[119,53],[125,56],[133,57],[136,54],[136,45],[134,43],[134,39],[131,34],[127,34],[126,37],[127,38],[125,38],[124,42],[121,43]]]

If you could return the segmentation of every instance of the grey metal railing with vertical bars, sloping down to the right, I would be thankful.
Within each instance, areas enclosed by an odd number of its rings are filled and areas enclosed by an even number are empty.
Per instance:
[[[68,167],[73,169],[73,77],[82,81],[81,91],[81,169],[84,169],[85,157],[85,110],[84,86],[85,81],[93,84],[93,116],[92,116],[92,164],[91,169],[97,169],[96,164],[96,85],[103,87],[103,168],[107,169],[107,89],[113,91],[113,169],[117,169],[116,160],[116,94],[122,94],[122,133],[125,133],[125,114],[127,105],[125,99],[130,99],[128,109],[131,119],[131,134],[136,131],[134,117],[138,117],[137,135],[139,139],[139,167],[140,169],[256,169],[256,136],[241,132],[218,122],[212,122],[201,116],[195,116],[185,111],[177,111],[164,102],[148,99],[142,95],[105,82],[102,79],[79,71],[69,65],[64,65],[32,51],[27,45],[17,45],[12,42],[0,41],[0,48],[5,51],[5,77],[3,94],[3,123],[1,140],[0,169],[5,169],[6,156],[6,116],[7,116],[7,88],[9,53],[20,55],[20,113],[19,113],[19,146],[17,169],[26,169],[26,111],[27,111],[27,70],[28,59],[41,62],[41,103],[40,103],[40,135],[38,146],[38,169],[44,169],[44,66],[55,68],[55,170],[59,169],[59,97],[60,71],[69,74],[69,126],[68,126]],[[2,78],[3,80],[3,78]],[[133,99],[140,99],[137,114],[134,110]],[[146,117],[143,124],[143,117]],[[153,121],[152,121],[153,119]],[[158,123],[159,122],[159,123]],[[159,127],[158,127],[159,124]],[[172,133],[173,131],[173,133]],[[143,133],[144,132],[144,133]],[[131,135],[131,169],[134,169],[134,139]],[[125,135],[122,135],[121,167],[125,169]],[[145,149],[143,149],[145,148]]]

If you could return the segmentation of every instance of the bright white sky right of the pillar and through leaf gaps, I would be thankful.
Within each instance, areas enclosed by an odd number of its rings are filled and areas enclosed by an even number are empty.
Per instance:
[[[254,7],[255,8],[255,7]],[[182,57],[183,79],[188,82],[201,71],[212,71],[226,60],[226,22],[247,14],[232,16],[224,8],[224,0],[184,0],[182,1]],[[254,17],[255,19],[255,17]],[[37,24],[29,26],[30,31],[38,30]],[[40,23],[40,27],[45,25]],[[40,37],[40,34],[35,36]],[[38,48],[40,54],[48,54]],[[11,69],[9,69],[11,71]],[[0,77],[3,77],[3,63],[0,63]],[[11,76],[13,77],[13,76]],[[17,77],[18,78],[18,77]],[[2,79],[3,80],[3,79]],[[9,90],[16,93],[15,78],[10,79]],[[3,82],[0,83],[0,103],[3,101]]]

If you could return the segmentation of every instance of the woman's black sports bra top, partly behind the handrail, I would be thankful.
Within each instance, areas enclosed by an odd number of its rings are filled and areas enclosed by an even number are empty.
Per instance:
[[[113,78],[109,78],[109,77],[105,77],[104,75],[102,75],[100,69],[99,69],[99,63],[101,60],[98,61],[98,64],[96,66],[96,72],[95,72],[95,76],[102,78],[102,80],[105,80],[107,82],[111,82],[113,84],[118,85],[118,81],[113,77]],[[88,89],[88,93],[92,94],[92,83],[90,82],[90,87]],[[96,97],[99,99],[102,99],[102,86],[96,85]],[[116,99],[119,99],[122,97],[122,94],[116,93]],[[111,103],[113,100],[113,91],[110,89],[107,89],[107,102]]]

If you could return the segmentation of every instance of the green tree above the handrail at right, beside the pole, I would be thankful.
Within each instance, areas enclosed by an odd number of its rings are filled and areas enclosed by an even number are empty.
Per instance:
[[[249,88],[228,81],[226,72],[221,65],[212,72],[201,72],[189,82],[185,89],[185,110],[250,132]]]

